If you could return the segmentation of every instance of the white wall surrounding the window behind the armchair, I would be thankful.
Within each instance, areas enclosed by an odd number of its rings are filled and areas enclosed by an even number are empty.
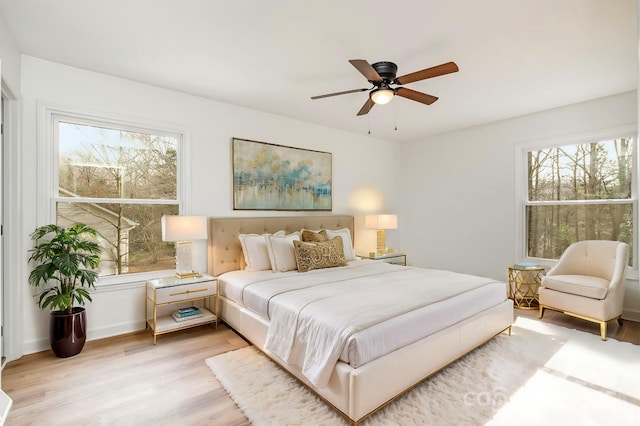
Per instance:
[[[515,146],[637,123],[636,92],[401,145],[401,245],[413,265],[507,280],[516,258]],[[640,319],[637,281],[625,317]]]

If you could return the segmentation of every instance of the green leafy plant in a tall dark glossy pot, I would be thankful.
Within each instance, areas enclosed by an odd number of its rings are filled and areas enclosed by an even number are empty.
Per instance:
[[[45,225],[37,228],[31,239],[36,247],[29,261],[36,266],[29,274],[29,284],[40,287],[38,305],[51,309],[49,341],[60,358],[82,351],[86,341],[85,308],[74,306],[91,301],[89,289],[98,280],[101,248],[98,232],[84,224],[69,228]]]

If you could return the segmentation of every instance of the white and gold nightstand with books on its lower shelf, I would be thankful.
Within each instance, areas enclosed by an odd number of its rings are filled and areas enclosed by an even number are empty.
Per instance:
[[[202,274],[193,278],[166,277],[147,281],[145,299],[146,326],[153,333],[153,344],[159,334],[172,333],[202,324],[218,325],[218,280]],[[211,304],[211,298],[214,304]],[[179,308],[196,306],[202,316],[176,321],[171,315]]]

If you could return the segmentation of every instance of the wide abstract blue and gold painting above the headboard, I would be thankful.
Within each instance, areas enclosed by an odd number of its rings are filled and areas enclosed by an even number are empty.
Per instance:
[[[331,211],[330,152],[232,138],[233,209]]]

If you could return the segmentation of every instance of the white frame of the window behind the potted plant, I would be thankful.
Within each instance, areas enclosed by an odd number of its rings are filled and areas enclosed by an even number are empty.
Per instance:
[[[38,151],[37,164],[37,199],[36,211],[38,224],[55,223],[56,204],[58,202],[68,202],[69,199],[60,197],[58,193],[58,123],[71,122],[86,124],[90,126],[103,126],[114,129],[122,129],[134,132],[149,132],[176,137],[177,147],[177,187],[176,200],[170,200],[172,204],[177,203],[180,214],[189,214],[191,205],[190,193],[187,191],[190,185],[190,174],[185,173],[185,164],[190,158],[190,132],[185,126],[167,124],[147,119],[138,119],[123,114],[112,114],[87,109],[73,108],[67,106],[39,103],[38,105]],[[74,201],[87,201],[79,199]],[[113,199],[95,199],[91,202],[112,201]],[[169,200],[146,200],[146,199],[126,199],[123,202],[129,204],[166,204]],[[100,277],[96,287],[111,285],[126,285],[144,283],[148,279],[159,278],[171,275],[173,270],[158,270],[148,272],[136,272],[122,275],[109,275]]]

